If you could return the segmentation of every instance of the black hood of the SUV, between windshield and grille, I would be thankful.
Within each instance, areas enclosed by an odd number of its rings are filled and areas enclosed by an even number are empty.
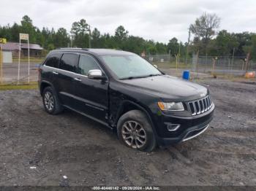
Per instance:
[[[137,87],[141,93],[147,93],[163,101],[191,101],[206,96],[208,90],[202,85],[168,75],[121,80],[126,85]]]

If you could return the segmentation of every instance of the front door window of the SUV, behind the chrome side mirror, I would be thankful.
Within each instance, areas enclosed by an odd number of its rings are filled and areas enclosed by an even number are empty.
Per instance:
[[[80,55],[80,60],[78,64],[78,74],[83,74],[88,76],[89,70],[99,69],[97,62],[94,58],[88,55]]]

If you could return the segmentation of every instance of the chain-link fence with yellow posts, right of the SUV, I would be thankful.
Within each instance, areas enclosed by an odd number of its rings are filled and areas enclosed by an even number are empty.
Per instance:
[[[189,70],[195,73],[244,76],[256,71],[256,62],[246,62],[245,57],[197,56],[178,58],[171,55],[146,55],[145,59],[159,69]]]

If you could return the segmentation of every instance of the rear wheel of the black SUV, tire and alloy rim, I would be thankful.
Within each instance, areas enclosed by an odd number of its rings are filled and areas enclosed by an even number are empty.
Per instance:
[[[45,87],[42,92],[42,103],[48,114],[59,114],[63,111],[63,106],[61,105],[56,92],[53,90],[53,87]]]

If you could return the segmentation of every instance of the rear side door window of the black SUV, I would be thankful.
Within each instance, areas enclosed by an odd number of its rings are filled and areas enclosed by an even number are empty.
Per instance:
[[[64,54],[61,58],[60,69],[76,72],[78,64],[78,55],[75,54]]]

